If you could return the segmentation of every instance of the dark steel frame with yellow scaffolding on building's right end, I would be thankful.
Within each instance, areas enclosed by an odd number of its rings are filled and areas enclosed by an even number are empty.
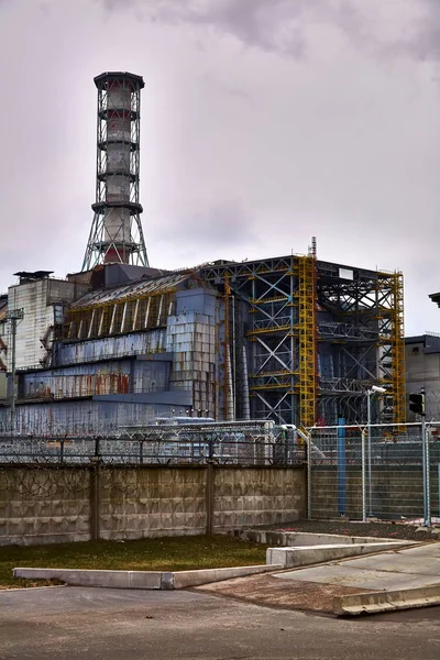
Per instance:
[[[252,418],[365,421],[366,391],[381,383],[388,394],[377,419],[405,420],[402,273],[290,255],[217,262],[200,274],[223,295],[228,282],[246,302]],[[232,372],[235,381],[233,364]],[[237,392],[244,385],[237,383]]]

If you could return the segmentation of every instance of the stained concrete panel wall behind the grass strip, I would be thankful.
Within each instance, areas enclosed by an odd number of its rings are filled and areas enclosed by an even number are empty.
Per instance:
[[[0,546],[226,531],[296,520],[305,507],[301,468],[9,465]]]

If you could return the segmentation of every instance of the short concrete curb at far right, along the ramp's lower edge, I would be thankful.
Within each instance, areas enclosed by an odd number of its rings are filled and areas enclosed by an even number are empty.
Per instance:
[[[430,605],[440,605],[440,583],[415,588],[334,596],[333,598],[333,612],[338,616],[378,614]]]

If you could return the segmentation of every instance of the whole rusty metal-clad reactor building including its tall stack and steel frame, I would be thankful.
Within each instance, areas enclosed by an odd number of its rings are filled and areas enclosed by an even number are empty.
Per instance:
[[[20,272],[0,297],[0,432],[105,433],[173,417],[310,427],[406,417],[400,272],[307,254],[150,267],[142,77],[98,89],[94,219],[80,272]],[[0,381],[0,397],[1,397]]]

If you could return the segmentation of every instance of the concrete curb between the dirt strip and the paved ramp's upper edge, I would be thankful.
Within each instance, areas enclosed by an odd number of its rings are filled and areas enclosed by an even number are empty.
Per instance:
[[[282,564],[286,569],[299,568],[348,557],[397,550],[397,548],[406,547],[406,541],[387,541],[382,543],[333,543],[300,546],[298,548],[267,548],[266,561],[268,564]]]

